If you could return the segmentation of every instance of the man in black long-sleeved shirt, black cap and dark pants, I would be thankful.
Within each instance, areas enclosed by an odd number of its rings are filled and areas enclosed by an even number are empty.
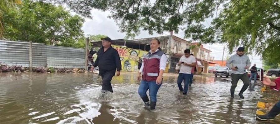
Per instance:
[[[109,37],[101,38],[102,46],[97,52],[97,59],[91,71],[99,66],[99,75],[102,77],[102,91],[113,92],[111,80],[115,76],[117,69],[117,76],[120,75],[122,69],[121,62],[119,59],[119,53],[113,47],[111,47],[112,40]]]

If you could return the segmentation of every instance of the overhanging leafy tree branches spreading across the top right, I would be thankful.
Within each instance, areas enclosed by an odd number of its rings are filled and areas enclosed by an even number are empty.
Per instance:
[[[47,0],[52,1],[52,0]],[[227,43],[229,51],[244,46],[251,53],[280,63],[279,0],[55,0],[90,17],[92,8],[110,11],[120,31],[134,37],[140,29],[185,32],[202,43]],[[211,25],[202,23],[213,18]]]

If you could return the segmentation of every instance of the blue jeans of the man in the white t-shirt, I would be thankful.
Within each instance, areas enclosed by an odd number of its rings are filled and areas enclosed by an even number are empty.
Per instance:
[[[183,73],[179,73],[178,79],[177,79],[177,84],[179,87],[180,91],[184,91],[184,93],[188,92],[188,88],[189,88],[189,80],[191,78],[191,74],[183,74]],[[184,89],[182,87],[182,81],[184,80]]]

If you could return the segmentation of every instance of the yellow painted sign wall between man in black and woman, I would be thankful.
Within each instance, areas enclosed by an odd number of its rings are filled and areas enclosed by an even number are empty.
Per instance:
[[[119,53],[119,57],[122,63],[122,71],[138,72],[139,57],[143,59],[143,57],[148,53],[147,51],[120,47],[116,45],[112,45],[112,47]]]

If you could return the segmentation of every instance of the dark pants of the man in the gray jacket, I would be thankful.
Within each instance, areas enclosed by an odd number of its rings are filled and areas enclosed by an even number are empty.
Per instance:
[[[244,83],[240,93],[242,94],[249,86],[250,81],[248,78],[248,74],[244,73],[244,74],[231,74],[231,95],[234,95],[234,91],[235,91],[235,87],[237,86],[237,82],[239,81],[239,79],[241,79]]]

